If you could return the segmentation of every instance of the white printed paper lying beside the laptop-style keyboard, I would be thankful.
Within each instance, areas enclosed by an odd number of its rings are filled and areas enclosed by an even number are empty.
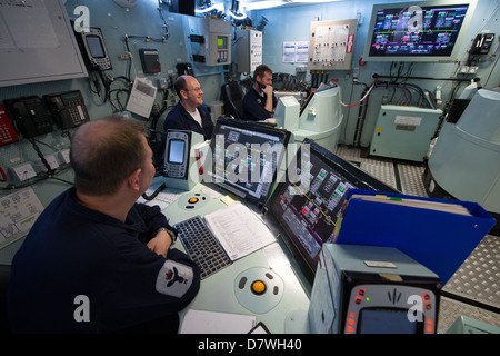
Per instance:
[[[274,235],[241,202],[233,202],[204,216],[231,260],[274,243]]]

